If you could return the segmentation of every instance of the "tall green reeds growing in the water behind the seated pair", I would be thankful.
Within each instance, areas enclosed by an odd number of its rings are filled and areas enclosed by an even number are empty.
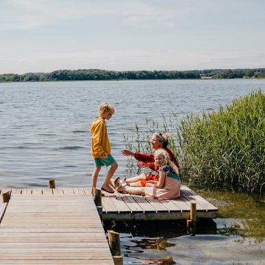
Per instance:
[[[125,138],[127,149],[150,153],[149,133],[166,131],[184,181],[199,187],[224,187],[264,194],[265,94],[262,90],[234,99],[218,110],[188,114],[164,124],[146,120],[146,129]]]

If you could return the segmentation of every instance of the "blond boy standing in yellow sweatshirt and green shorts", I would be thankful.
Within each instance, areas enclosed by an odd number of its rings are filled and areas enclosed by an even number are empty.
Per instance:
[[[92,134],[91,155],[94,157],[92,189],[97,187],[97,177],[99,175],[99,171],[101,170],[101,166],[111,166],[103,186],[101,187],[101,190],[110,193],[114,193],[112,186],[110,186],[110,179],[118,168],[118,164],[110,154],[110,141],[108,138],[105,120],[109,120],[114,112],[115,110],[110,103],[102,103],[99,106],[99,118],[94,119],[92,125],[90,126],[90,133]]]

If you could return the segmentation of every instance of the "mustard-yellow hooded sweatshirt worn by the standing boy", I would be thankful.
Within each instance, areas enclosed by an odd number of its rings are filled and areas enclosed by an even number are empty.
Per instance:
[[[100,157],[101,153],[110,155],[110,141],[107,133],[107,126],[103,118],[96,118],[90,126],[92,134],[91,155],[94,158]]]

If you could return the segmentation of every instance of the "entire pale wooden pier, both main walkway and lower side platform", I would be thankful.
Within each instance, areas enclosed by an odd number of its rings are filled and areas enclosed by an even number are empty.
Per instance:
[[[0,202],[0,264],[114,264],[101,219],[188,220],[193,214],[216,218],[218,211],[186,186],[181,197],[165,201],[103,192],[98,208],[90,188],[0,189],[5,192],[10,201]]]

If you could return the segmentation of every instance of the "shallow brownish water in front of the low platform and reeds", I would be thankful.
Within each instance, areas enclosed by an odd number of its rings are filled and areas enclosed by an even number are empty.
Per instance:
[[[194,237],[181,220],[104,223],[121,233],[124,264],[264,264],[264,198],[192,189],[218,207],[218,218],[200,219]]]

